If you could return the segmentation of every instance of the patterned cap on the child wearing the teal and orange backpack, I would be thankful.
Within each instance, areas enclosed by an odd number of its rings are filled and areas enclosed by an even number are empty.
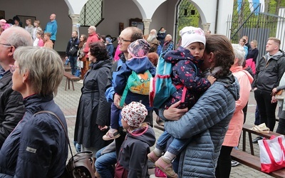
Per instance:
[[[138,39],[128,46],[128,52],[133,58],[144,58],[150,51],[150,44],[144,39]]]

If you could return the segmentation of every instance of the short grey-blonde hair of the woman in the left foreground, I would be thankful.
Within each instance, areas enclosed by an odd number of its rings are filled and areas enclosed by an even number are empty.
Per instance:
[[[63,79],[63,62],[56,51],[50,48],[22,46],[14,52],[20,73],[28,71],[28,81],[41,96],[57,94]]]

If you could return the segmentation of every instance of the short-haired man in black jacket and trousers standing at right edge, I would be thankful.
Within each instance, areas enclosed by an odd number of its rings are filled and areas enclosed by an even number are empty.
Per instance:
[[[285,71],[285,54],[280,51],[281,41],[278,38],[268,38],[266,54],[257,63],[254,75],[254,98],[260,112],[260,124],[265,123],[270,131],[274,130],[276,103],[272,103],[271,92],[279,86]],[[257,143],[260,137],[254,140]]]

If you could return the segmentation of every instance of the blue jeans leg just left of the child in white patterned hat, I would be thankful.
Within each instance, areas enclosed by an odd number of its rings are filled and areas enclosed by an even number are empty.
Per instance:
[[[101,155],[101,152],[104,149],[105,147],[103,147],[101,150],[98,150],[98,152],[96,152],[96,161],[95,161],[96,171],[100,174],[101,178],[114,177],[115,169],[112,165],[116,164],[117,162],[116,153],[114,151],[114,152],[108,152],[108,153],[105,153],[104,155]]]

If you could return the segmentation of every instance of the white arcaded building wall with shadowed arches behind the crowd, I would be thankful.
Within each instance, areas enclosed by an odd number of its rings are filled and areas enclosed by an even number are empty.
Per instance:
[[[56,14],[58,22],[58,34],[56,36],[56,51],[66,51],[66,45],[71,38],[72,21],[68,16],[68,11],[71,14],[80,13],[82,6],[87,0],[25,0],[25,1],[0,1],[1,10],[5,11],[6,19],[12,19],[15,15],[36,16],[36,19],[41,21],[42,28],[45,28],[49,21],[50,14]],[[129,26],[129,19],[151,16],[152,22],[150,29],[155,28],[157,31],[160,27],[165,27],[167,33],[174,35],[175,28],[175,5],[178,0],[160,0],[160,6],[157,9],[147,8],[147,4],[152,6],[156,0],[105,0],[102,23],[97,26],[98,33],[110,34],[111,36],[119,35],[119,23],[124,23],[124,27]],[[216,3],[218,0],[192,0],[193,4],[197,5],[197,9],[201,14],[201,23],[210,23],[209,29],[214,32],[214,24],[216,17]],[[144,4],[145,14],[141,13],[137,4]],[[157,3],[157,1],[156,1]],[[226,21],[228,14],[231,14],[233,0],[219,0],[219,18],[217,23],[217,33],[226,34]],[[46,8],[48,7],[48,8]],[[230,7],[230,8],[229,8]],[[152,14],[152,15],[151,15]],[[88,27],[80,27],[81,33],[87,34]],[[115,46],[117,44],[115,43]]]

